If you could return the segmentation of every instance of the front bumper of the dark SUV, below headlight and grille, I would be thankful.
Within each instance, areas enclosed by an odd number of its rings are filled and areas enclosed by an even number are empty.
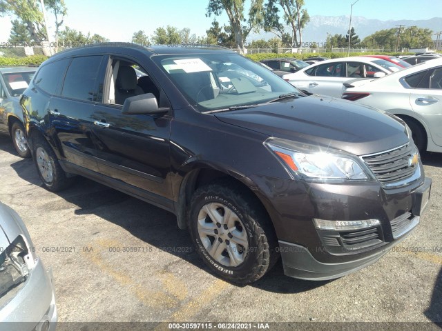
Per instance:
[[[375,263],[407,237],[421,219],[431,179],[422,177],[400,188],[381,183],[307,183],[254,178],[271,201],[266,205],[278,236],[285,274],[326,280]],[[265,183],[266,185],[260,185]],[[378,225],[353,231],[318,230],[314,219],[377,219]]]

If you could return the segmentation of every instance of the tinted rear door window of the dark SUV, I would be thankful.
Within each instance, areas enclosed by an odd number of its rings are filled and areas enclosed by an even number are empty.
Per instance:
[[[74,58],[66,73],[61,95],[73,99],[101,102],[97,87],[97,75],[101,63],[102,56]]]

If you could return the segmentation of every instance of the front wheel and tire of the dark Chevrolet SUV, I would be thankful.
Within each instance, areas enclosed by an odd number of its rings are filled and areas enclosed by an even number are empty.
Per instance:
[[[191,199],[189,231],[198,254],[214,274],[238,285],[260,279],[279,257],[275,250],[277,239],[273,226],[267,212],[257,200],[236,183],[203,186],[195,191]],[[216,210],[218,214],[211,217],[207,210]],[[225,219],[227,212],[233,212],[229,220]],[[224,225],[220,226],[213,219],[222,219],[220,223],[225,224],[226,221],[229,226],[234,226],[224,228]],[[213,236],[207,234],[211,233],[209,228],[214,229]],[[202,235],[199,229],[204,230]],[[244,238],[247,243],[244,241],[244,245],[241,245]],[[218,256],[218,259],[209,252],[211,249],[216,250],[213,255]],[[238,264],[234,265],[236,263]]]

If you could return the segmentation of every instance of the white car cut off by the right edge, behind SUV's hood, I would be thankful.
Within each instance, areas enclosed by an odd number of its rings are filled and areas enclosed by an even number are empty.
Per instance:
[[[442,152],[442,58],[356,83],[343,99],[395,114],[410,127],[419,150]]]

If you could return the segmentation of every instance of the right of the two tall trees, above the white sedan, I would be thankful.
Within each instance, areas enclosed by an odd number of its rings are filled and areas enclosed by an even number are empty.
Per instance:
[[[280,23],[279,8],[282,9],[282,20],[291,28],[291,47],[302,47],[302,29],[310,21],[309,13],[303,9],[304,0],[268,0],[265,11],[264,29],[281,38],[285,34],[284,25]]]

